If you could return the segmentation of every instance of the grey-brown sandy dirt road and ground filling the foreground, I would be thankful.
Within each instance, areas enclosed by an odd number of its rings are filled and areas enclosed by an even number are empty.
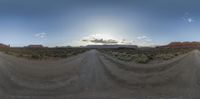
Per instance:
[[[1,99],[199,99],[200,52],[125,64],[90,50],[57,61],[0,53]]]

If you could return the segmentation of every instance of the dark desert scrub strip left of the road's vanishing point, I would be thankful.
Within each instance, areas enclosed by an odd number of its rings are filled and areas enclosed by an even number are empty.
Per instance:
[[[85,52],[84,48],[1,48],[0,51],[28,59],[59,59]]]

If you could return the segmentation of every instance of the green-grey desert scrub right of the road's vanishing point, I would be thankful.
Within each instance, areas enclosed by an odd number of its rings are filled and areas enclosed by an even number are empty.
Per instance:
[[[185,54],[190,48],[138,48],[138,49],[101,49],[100,51],[122,61],[148,63],[153,60],[169,60]]]

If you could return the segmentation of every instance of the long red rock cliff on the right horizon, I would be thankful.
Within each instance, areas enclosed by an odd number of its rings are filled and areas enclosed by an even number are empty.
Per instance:
[[[172,42],[166,47],[169,48],[200,48],[200,42]]]

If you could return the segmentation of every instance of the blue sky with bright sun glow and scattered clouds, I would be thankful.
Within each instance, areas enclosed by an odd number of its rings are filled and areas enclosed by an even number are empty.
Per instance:
[[[200,41],[199,0],[0,0],[0,43],[155,46]]]

